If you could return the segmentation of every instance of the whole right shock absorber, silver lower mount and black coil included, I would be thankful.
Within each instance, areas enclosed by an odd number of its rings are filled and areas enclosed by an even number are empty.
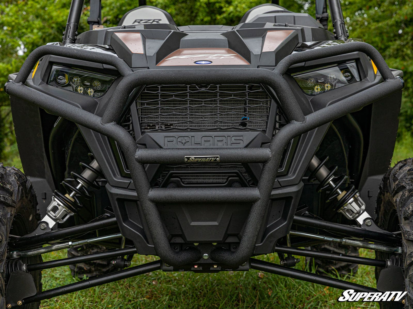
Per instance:
[[[358,225],[372,225],[373,220],[366,212],[366,203],[361,199],[358,190],[354,185],[349,185],[340,190],[340,187],[346,182],[347,176],[335,177],[334,173],[337,171],[338,166],[331,166],[328,169],[325,167],[327,160],[328,156],[321,158],[321,160],[316,156],[311,159],[309,164],[309,170],[311,171],[309,181],[318,180],[320,182],[316,189],[317,192],[329,190],[326,201],[329,202],[336,199],[337,201],[333,207],[346,218],[356,220]]]

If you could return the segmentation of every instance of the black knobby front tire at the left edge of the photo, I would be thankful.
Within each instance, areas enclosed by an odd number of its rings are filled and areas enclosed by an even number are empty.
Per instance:
[[[0,163],[0,309],[6,308],[5,271],[7,262],[7,241],[9,234],[23,236],[36,229],[38,219],[36,215],[37,199],[31,182],[15,167],[5,167]],[[25,264],[42,261],[41,255],[22,258]],[[40,292],[41,271],[31,272]],[[40,302],[19,306],[24,309],[37,309]]]

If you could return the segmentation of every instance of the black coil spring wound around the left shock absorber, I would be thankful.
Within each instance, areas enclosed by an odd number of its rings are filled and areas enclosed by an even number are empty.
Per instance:
[[[89,157],[93,160],[94,157],[91,153],[88,154]],[[104,178],[102,172],[98,171],[95,169],[93,166],[90,164],[87,164],[85,162],[80,162],[79,165],[81,166],[82,170],[85,171],[86,169],[92,171],[95,173],[97,176],[100,178]],[[82,172],[83,174],[83,172]],[[92,187],[94,189],[99,189],[100,185],[96,181],[90,181],[89,179],[85,178],[79,173],[76,172],[71,172],[70,175],[72,178],[65,178],[61,184],[66,190],[67,194],[71,194],[72,192],[75,192],[76,195],[72,199],[66,196],[66,194],[63,194],[59,190],[55,190],[53,193],[53,196],[59,200],[62,204],[64,204],[70,211],[73,213],[77,213],[79,209],[83,207],[81,201],[79,201],[78,196],[83,197],[84,199],[91,199],[92,195],[90,195],[88,189],[85,187],[87,185],[88,187]],[[76,186],[78,184],[81,184],[81,188],[77,188]]]

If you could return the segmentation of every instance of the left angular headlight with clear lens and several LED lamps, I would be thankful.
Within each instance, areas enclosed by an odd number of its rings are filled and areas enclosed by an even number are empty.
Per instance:
[[[52,66],[47,84],[85,96],[99,98],[107,91],[114,80],[115,78],[112,76]]]

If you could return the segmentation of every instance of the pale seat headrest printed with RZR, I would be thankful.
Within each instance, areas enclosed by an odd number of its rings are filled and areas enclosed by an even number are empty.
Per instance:
[[[158,7],[151,5],[142,5],[136,9],[132,9],[123,15],[119,26],[142,25],[148,23],[170,23],[176,26],[171,14]]]

